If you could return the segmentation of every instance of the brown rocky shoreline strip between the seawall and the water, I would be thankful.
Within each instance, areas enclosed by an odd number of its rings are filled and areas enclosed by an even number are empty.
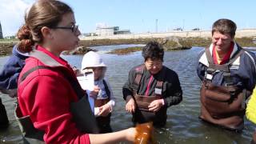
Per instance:
[[[236,42],[240,46],[256,47],[253,38],[236,38]],[[210,45],[210,38],[180,38],[180,37],[168,37],[168,38],[138,38],[138,39],[95,39],[95,40],[82,40],[79,42],[77,49],[72,51],[66,51],[63,54],[86,54],[86,52],[92,50],[91,46],[111,46],[111,45],[124,45],[124,44],[146,44],[150,41],[157,41],[162,44],[165,50],[186,50],[192,46],[207,47]],[[17,41],[1,42],[0,41],[0,55],[10,55],[12,47]],[[130,52],[141,50],[141,47],[131,47],[122,50],[115,50],[110,52],[111,54],[128,54]]]

